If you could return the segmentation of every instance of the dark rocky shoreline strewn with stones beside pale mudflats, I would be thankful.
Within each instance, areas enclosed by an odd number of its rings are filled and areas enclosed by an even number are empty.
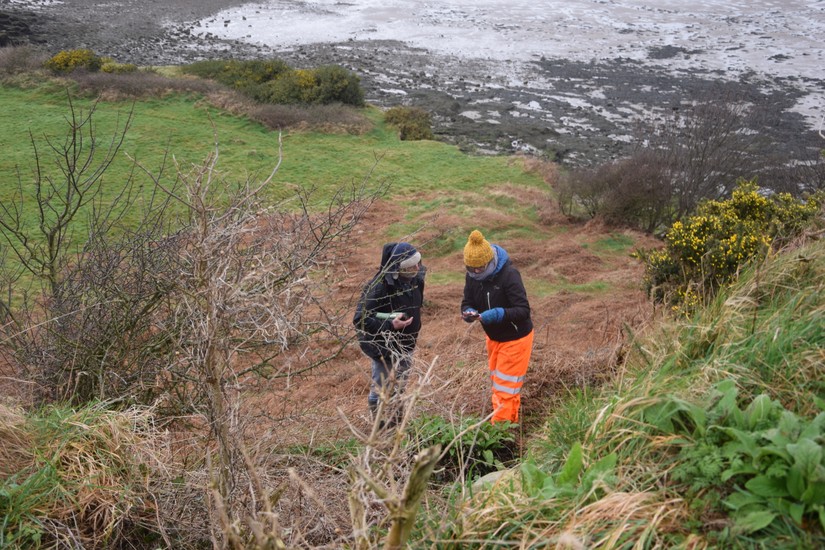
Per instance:
[[[50,53],[90,48],[139,65],[229,57],[279,57],[299,67],[340,64],[361,76],[369,102],[424,107],[434,114],[439,139],[481,154],[526,152],[569,165],[615,159],[632,147],[640,118],[667,117],[709,93],[741,98],[776,113],[771,126],[760,131],[784,158],[809,159],[822,147],[816,132],[791,110],[803,92],[784,78],[674,73],[630,59],[537,59],[514,84],[512,77],[508,81],[496,76],[482,60],[436,55],[397,41],[353,40],[273,51],[220,40],[194,23],[244,3],[5,0],[0,3],[0,37],[9,43],[29,41]],[[18,34],[10,36],[9,30]],[[661,57],[684,54],[678,49],[656,52]]]

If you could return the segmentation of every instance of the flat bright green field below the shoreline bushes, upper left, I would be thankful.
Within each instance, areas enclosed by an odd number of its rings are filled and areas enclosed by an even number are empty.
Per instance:
[[[75,106],[87,109],[89,100],[74,99]],[[131,103],[101,103],[94,117],[98,140],[108,140],[122,126]],[[69,113],[66,91],[55,85],[35,89],[0,89],[0,199],[13,192],[19,167],[29,184],[34,154],[29,133],[45,151],[45,136],[62,141]],[[402,142],[386,128],[377,109],[366,115],[374,129],[362,136],[286,132],[283,135],[283,164],[271,192],[289,194],[290,186],[316,187],[329,195],[335,187],[362,181],[371,171],[374,182],[386,180],[393,193],[411,196],[439,190],[471,191],[490,183],[512,182],[541,185],[536,175],[502,157],[472,158],[457,148],[438,142]],[[182,121],[186,121],[182,123]],[[198,164],[212,151],[211,122],[220,142],[219,169],[230,182],[247,177],[262,179],[278,159],[278,134],[248,119],[208,108],[197,97],[171,96],[135,104],[131,130],[121,149],[119,162],[107,178],[125,178],[129,161],[137,158],[156,173],[165,151],[186,166]],[[377,165],[376,165],[377,162]],[[50,168],[50,173],[55,173]]]

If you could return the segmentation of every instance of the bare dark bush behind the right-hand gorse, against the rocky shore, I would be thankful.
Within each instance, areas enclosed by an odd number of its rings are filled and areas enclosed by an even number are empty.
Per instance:
[[[772,166],[759,129],[760,105],[720,94],[698,98],[656,125],[642,125],[628,158],[565,174],[557,186],[568,214],[655,232],[693,212],[703,200],[728,196],[745,178]]]

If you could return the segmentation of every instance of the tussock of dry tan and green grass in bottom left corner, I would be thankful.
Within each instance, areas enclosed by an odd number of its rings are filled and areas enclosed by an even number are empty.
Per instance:
[[[164,523],[172,521],[156,503],[171,486],[171,460],[153,411],[96,406],[43,415],[27,420],[0,406],[0,472],[17,476],[15,499],[4,507],[10,525],[22,521],[55,547],[117,547],[136,531],[166,538]]]

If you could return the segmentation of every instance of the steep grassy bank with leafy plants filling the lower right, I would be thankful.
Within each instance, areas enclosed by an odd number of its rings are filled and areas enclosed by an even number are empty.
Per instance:
[[[531,475],[431,519],[438,534],[422,538],[484,540],[498,529],[521,547],[821,548],[825,486],[803,484],[812,493],[801,501],[781,495],[788,465],[802,460],[799,428],[783,427],[790,419],[814,434],[821,473],[823,349],[825,243],[815,241],[749,270],[694,318],[639,338],[615,382],[572,393],[548,417],[523,470]],[[791,446],[773,444],[779,433]],[[730,476],[744,467],[765,477]],[[778,488],[761,495],[757,477]],[[752,502],[735,509],[742,495]]]

